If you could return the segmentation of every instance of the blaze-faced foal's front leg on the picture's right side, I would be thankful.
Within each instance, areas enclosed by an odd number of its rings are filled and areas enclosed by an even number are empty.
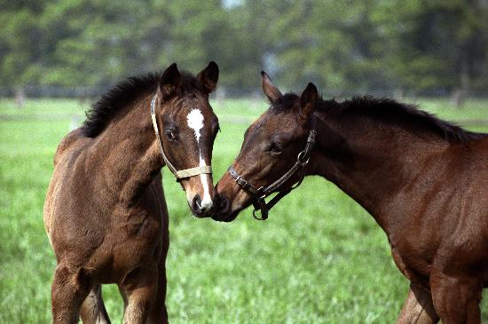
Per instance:
[[[144,324],[157,291],[157,266],[145,265],[134,269],[119,285],[124,298],[124,324]]]

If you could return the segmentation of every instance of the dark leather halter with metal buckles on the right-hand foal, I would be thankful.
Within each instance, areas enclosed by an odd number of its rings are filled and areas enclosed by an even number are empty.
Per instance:
[[[255,217],[257,220],[265,220],[268,218],[269,211],[272,209],[272,207],[279,202],[281,198],[302,184],[303,178],[305,178],[304,171],[307,164],[310,162],[311,150],[315,145],[316,136],[317,131],[315,130],[315,117],[313,117],[312,129],[309,132],[309,137],[307,138],[305,148],[303,148],[303,151],[298,154],[293,167],[291,167],[290,170],[287,170],[287,172],[281,176],[281,178],[273,182],[270,186],[260,186],[259,188],[256,188],[256,186],[251,185],[245,178],[240,177],[240,174],[232,167],[232,165],[229,167],[229,169],[227,169],[235,182],[252,196],[254,206],[253,217]],[[283,186],[283,184],[287,182],[289,178],[295,175],[296,172],[299,172],[299,175],[295,184],[285,190],[280,190],[279,188]],[[274,196],[270,202],[266,202],[264,199],[275,191],[279,191],[279,193]],[[257,216],[258,210],[261,210],[261,217]]]

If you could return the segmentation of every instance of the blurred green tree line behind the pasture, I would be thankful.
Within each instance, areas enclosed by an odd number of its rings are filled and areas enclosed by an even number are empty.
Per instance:
[[[107,86],[210,59],[220,85],[488,90],[488,0],[0,1],[0,86]]]

